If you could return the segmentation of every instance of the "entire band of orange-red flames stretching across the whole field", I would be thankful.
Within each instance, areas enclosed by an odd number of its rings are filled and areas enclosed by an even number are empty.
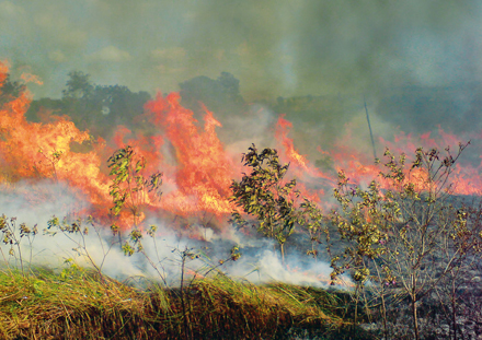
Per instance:
[[[7,63],[0,62],[0,91],[8,71]],[[41,83],[32,74],[25,74],[23,79]],[[112,207],[112,181],[106,160],[115,150],[131,145],[136,154],[146,160],[146,174],[157,171],[164,174],[162,199],[146,199],[141,219],[168,212],[183,218],[202,219],[207,214],[207,219],[214,216],[222,220],[233,210],[229,201],[230,185],[233,178],[241,176],[242,167],[240,162],[232,160],[239,160],[240,155],[234,157],[226,151],[216,133],[216,129],[222,128],[222,125],[207,108],[204,108],[204,125],[200,125],[190,109],[181,106],[177,93],[165,97],[158,94],[146,103],[145,114],[136,118],[156,127],[153,133],[145,136],[119,126],[114,137],[105,141],[93,140],[89,131],[79,130],[67,116],[44,113],[48,118],[45,122],[27,121],[25,112],[30,103],[31,95],[23,92],[0,107],[0,183],[3,190],[13,190],[21,180],[66,183],[76,189],[79,201],[89,202],[90,207],[82,212],[107,221],[108,208]],[[282,161],[290,163],[291,175],[299,179],[298,189],[302,196],[318,202],[329,201],[331,189],[337,183],[336,172],[341,169],[354,184],[367,184],[378,177],[380,168],[375,165],[370,154],[347,146],[349,130],[334,142],[332,150],[319,146],[320,156],[333,163],[328,165],[332,168],[326,169],[318,168],[296,150],[294,140],[288,137],[291,128],[290,121],[279,117],[275,138]],[[480,139],[479,136],[471,138]],[[408,156],[413,155],[420,145],[444,150],[459,142],[463,141],[441,128],[438,133],[421,136],[399,132],[393,142],[379,139],[379,144],[387,145],[394,154],[404,152]],[[467,162],[455,166],[456,194],[481,194],[481,166]],[[425,179],[423,172],[413,172],[410,178],[421,185]],[[35,199],[32,198],[33,201]],[[119,219],[124,227],[133,224],[128,211],[123,211]]]

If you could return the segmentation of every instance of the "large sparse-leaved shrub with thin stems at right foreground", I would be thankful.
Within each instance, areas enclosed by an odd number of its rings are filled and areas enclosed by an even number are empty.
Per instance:
[[[342,251],[332,258],[332,279],[351,272],[357,290],[375,294],[387,326],[387,304],[410,304],[413,337],[421,338],[418,308],[423,297],[439,291],[448,275],[481,250],[481,224],[454,195],[450,175],[461,152],[417,149],[413,162],[386,151],[381,179],[362,188],[338,174],[332,211]],[[463,280],[459,272],[455,280]],[[404,297],[406,296],[406,298]],[[455,313],[455,312],[454,312]],[[455,325],[454,325],[455,327]]]

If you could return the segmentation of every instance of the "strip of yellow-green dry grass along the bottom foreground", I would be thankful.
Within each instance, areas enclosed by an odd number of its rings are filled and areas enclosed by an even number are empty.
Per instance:
[[[219,273],[138,290],[88,270],[0,271],[1,339],[286,339],[294,328],[344,329],[341,308],[325,291]]]

